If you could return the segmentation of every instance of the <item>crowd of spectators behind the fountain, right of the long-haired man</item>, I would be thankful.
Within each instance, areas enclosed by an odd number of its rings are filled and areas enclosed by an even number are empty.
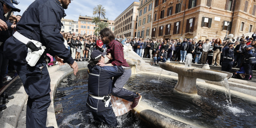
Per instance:
[[[155,39],[147,40],[142,38],[126,39],[124,35],[122,38],[117,36],[116,40],[121,42],[123,45],[132,46],[132,50],[142,58],[154,59],[155,65],[158,65],[159,61],[177,61],[184,63],[188,53],[192,54],[192,62],[195,64],[209,64],[212,66],[221,67],[225,59],[225,49],[230,48],[229,43],[234,43],[234,58],[232,67],[241,68],[244,65],[246,46],[252,46],[250,50],[255,53],[255,41],[256,32],[252,37],[244,38],[244,35],[236,40],[213,38],[212,40],[199,40],[196,39]],[[242,68],[245,70],[245,67]],[[256,69],[256,66],[251,69]],[[231,71],[231,70],[229,70]],[[251,77],[250,77],[251,78]]]

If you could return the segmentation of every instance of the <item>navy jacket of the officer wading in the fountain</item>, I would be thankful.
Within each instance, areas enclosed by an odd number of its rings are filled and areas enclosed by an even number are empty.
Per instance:
[[[112,91],[112,77],[120,76],[124,73],[124,69],[121,66],[104,66],[98,65],[91,66],[88,64],[89,74],[88,78],[88,92],[93,96],[103,97],[111,94]],[[112,109],[111,102],[108,107],[105,107],[105,101],[95,99],[88,95],[86,106],[93,112],[102,112]]]

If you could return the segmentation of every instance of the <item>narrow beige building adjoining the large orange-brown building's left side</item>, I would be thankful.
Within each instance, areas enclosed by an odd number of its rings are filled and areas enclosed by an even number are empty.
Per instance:
[[[151,39],[154,0],[140,0],[138,10],[137,38]]]

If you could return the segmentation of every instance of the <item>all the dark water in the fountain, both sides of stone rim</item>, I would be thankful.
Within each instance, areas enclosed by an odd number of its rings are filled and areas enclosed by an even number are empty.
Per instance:
[[[68,75],[56,89],[54,105],[62,103],[63,113],[56,114],[59,127],[105,127],[94,121],[86,107],[88,74],[79,70],[77,76]],[[181,118],[199,127],[256,127],[256,102],[231,94],[233,107],[228,107],[225,91],[197,86],[201,97],[187,96],[174,91],[177,80],[158,75],[132,75],[125,87],[139,92],[149,106]],[[64,120],[65,118],[65,120]],[[131,112],[117,118],[120,127],[148,128]]]

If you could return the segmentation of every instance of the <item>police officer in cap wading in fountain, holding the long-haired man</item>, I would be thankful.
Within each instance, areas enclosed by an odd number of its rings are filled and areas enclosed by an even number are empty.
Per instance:
[[[121,76],[124,73],[122,66],[104,66],[100,67],[97,63],[105,63],[104,55],[99,50],[91,53],[91,60],[88,64],[88,92],[86,106],[92,111],[95,119],[108,124],[108,126],[117,126],[115,113],[110,102],[112,92],[112,77]]]

